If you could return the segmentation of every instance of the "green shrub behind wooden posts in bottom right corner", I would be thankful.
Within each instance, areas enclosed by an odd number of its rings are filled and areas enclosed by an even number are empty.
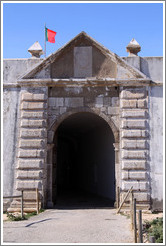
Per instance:
[[[163,242],[163,217],[145,222],[145,230],[149,236],[155,237],[156,243]]]

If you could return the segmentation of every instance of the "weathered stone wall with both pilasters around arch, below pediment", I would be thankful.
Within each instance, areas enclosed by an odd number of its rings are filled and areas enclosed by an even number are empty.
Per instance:
[[[99,55],[97,51],[95,54]],[[54,86],[45,82],[48,74],[55,73],[54,64],[36,76],[41,80],[43,77],[42,85],[34,86],[28,82],[19,85],[17,79],[35,64],[40,65],[43,59],[4,60],[4,195],[25,189],[28,211],[29,206],[33,207],[35,203],[34,189],[39,188],[42,202],[49,206],[53,192],[55,131],[60,122],[72,113],[92,112],[103,118],[112,129],[116,185],[121,188],[121,199],[132,185],[142,208],[162,209],[162,58],[133,56],[123,59],[154,83],[129,86],[126,81],[99,86],[93,79],[88,84],[87,80],[71,82],[66,79],[61,86]],[[106,60],[102,71],[107,70],[108,64],[110,61]],[[113,70],[109,75],[114,77],[114,64],[111,66]],[[13,202],[13,209],[17,204],[19,206],[17,200]]]

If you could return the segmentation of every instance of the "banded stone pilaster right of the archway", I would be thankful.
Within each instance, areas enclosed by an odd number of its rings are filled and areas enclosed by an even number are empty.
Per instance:
[[[121,199],[133,186],[142,208],[149,208],[149,125],[146,87],[122,87],[120,93]],[[127,205],[127,203],[126,203]]]

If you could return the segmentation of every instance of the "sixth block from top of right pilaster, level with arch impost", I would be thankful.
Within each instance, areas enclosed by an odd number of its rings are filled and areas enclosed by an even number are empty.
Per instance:
[[[123,149],[146,149],[148,147],[146,140],[126,140],[122,139]]]

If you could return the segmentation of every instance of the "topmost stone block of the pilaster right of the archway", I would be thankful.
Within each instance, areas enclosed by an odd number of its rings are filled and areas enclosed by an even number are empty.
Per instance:
[[[137,99],[145,98],[146,96],[145,88],[127,88],[121,92],[121,98],[124,99]]]

